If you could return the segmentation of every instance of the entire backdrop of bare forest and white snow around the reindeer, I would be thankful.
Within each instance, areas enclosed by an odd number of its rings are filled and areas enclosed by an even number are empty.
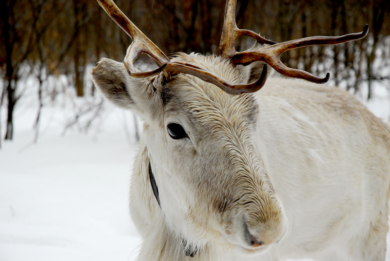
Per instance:
[[[218,51],[225,0],[115,2],[165,54]],[[0,260],[135,260],[140,238],[126,205],[142,127],[104,101],[90,76],[100,57],[122,61],[131,39],[95,0],[2,0],[0,14]],[[389,122],[388,0],[239,0],[236,17],[277,42],[368,23],[362,40],[281,58],[330,72],[328,85]],[[235,46],[252,44],[241,37]],[[154,66],[145,56],[137,63]]]

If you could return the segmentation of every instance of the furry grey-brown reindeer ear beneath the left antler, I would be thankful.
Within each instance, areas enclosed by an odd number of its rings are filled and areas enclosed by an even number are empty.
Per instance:
[[[132,90],[142,90],[139,79],[133,79],[127,73],[123,63],[111,59],[101,59],[92,69],[92,79],[101,93],[118,107],[136,109]],[[139,91],[137,94],[140,94]]]

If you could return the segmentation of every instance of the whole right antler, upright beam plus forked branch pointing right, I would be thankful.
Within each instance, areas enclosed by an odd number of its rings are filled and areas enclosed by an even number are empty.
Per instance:
[[[347,41],[361,39],[366,37],[369,31],[369,25],[366,24],[363,32],[361,33],[349,34],[340,37],[306,37],[282,43],[275,43],[273,41],[264,39],[252,31],[238,29],[234,18],[236,4],[237,0],[227,0],[226,2],[225,20],[222,29],[221,40],[219,43],[219,54],[222,57],[230,58],[234,65],[241,64],[245,66],[255,61],[263,61],[268,63],[273,69],[276,70],[276,72],[281,75],[305,79],[315,83],[327,82],[329,80],[330,74],[327,73],[325,78],[320,78],[302,70],[289,68],[280,61],[279,56],[288,50],[304,46],[339,44]],[[269,44],[270,46],[254,51],[236,52],[234,49],[234,41],[238,36],[253,37],[259,43]],[[262,86],[259,86],[258,89],[261,87]]]

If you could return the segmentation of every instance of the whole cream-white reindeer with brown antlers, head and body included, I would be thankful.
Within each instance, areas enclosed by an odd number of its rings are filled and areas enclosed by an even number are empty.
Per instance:
[[[92,75],[108,100],[144,121],[130,189],[139,261],[385,260],[389,128],[349,93],[311,83],[329,74],[279,60],[293,48],[360,39],[368,25],[275,43],[238,29],[228,0],[217,56],[168,58],[112,0],[98,1],[133,38],[123,63],[103,58]],[[236,52],[238,36],[257,44]],[[140,53],[157,68],[138,71]],[[310,82],[266,81],[271,68]]]

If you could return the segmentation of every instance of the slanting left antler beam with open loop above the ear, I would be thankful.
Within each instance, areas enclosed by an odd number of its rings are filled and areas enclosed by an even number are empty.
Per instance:
[[[120,11],[113,0],[98,0],[98,3],[123,31],[133,39],[123,62],[130,75],[155,75],[163,69],[166,63],[170,62],[169,58],[156,46],[156,44],[146,37],[137,26]],[[140,53],[145,53],[150,56],[160,68],[148,73],[137,72],[134,68],[134,60]]]

